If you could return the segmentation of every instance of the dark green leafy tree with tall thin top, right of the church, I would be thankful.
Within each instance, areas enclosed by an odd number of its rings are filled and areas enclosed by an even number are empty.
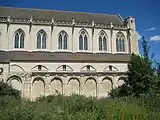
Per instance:
[[[112,90],[112,97],[122,97],[135,95],[139,97],[143,93],[147,93],[154,86],[154,69],[152,61],[149,59],[149,47],[147,41],[142,37],[143,55],[131,55],[128,63],[128,79],[124,80],[124,84],[115,90]],[[115,96],[116,95],[116,96]]]

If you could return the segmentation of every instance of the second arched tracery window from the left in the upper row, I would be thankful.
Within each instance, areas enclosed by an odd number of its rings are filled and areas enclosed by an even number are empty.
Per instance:
[[[46,49],[47,34],[44,30],[40,30],[37,34],[37,49]]]

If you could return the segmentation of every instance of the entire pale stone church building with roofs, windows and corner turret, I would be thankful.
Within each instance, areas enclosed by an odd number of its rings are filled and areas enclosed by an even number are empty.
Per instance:
[[[107,97],[139,54],[135,19],[0,7],[0,79],[24,98]]]

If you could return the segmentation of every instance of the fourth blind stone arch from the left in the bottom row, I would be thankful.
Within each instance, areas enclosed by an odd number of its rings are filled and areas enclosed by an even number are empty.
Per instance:
[[[68,80],[66,94],[80,94],[80,81],[76,77],[71,77]]]

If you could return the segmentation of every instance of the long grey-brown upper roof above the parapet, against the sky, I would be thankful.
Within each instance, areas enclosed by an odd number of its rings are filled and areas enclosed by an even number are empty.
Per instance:
[[[82,13],[82,12],[69,12],[58,10],[43,10],[43,9],[29,9],[29,8],[14,8],[14,7],[0,7],[0,16],[11,18],[23,18],[40,20],[51,20],[54,18],[56,21],[72,21],[91,23],[95,21],[97,24],[110,24],[123,25],[124,22],[119,15],[111,14],[98,14],[98,13]]]

